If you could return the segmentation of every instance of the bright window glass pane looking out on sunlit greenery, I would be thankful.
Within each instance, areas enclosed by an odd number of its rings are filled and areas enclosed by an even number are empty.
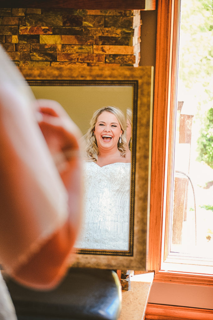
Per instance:
[[[170,237],[170,253],[204,260],[213,259],[212,6],[181,0]]]

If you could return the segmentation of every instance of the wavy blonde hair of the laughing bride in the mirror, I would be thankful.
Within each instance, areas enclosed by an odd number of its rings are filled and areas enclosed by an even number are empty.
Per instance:
[[[102,114],[104,111],[111,112],[116,116],[118,119],[118,122],[120,124],[121,130],[122,130],[122,141],[121,143],[118,140],[118,150],[121,152],[121,156],[125,157],[126,156],[126,138],[124,137],[124,131],[126,129],[126,119],[123,114],[123,112],[114,106],[107,106],[98,109],[97,111],[94,112],[92,119],[90,120],[90,127],[87,131],[86,134],[86,155],[87,155],[87,161],[93,161],[96,162],[98,160],[99,156],[99,149],[97,146],[97,142],[95,139],[94,135],[94,129],[95,129],[95,124],[97,122],[98,116]]]

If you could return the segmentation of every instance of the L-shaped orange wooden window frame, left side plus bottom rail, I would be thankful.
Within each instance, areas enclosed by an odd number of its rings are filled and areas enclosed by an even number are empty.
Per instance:
[[[158,282],[213,285],[212,276],[165,272],[160,266],[162,242],[168,238],[168,223],[165,228],[163,223],[164,210],[168,212],[171,205],[179,3],[177,0],[159,0],[157,7],[148,270],[155,272],[154,281]]]

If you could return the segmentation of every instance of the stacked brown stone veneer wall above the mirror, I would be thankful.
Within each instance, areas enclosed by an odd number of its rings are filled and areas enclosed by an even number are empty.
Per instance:
[[[0,43],[20,67],[138,67],[140,10],[0,8]]]

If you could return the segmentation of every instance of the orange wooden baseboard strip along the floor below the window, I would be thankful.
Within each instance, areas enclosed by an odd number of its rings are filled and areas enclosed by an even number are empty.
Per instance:
[[[212,320],[212,309],[186,308],[148,303],[145,320]]]

